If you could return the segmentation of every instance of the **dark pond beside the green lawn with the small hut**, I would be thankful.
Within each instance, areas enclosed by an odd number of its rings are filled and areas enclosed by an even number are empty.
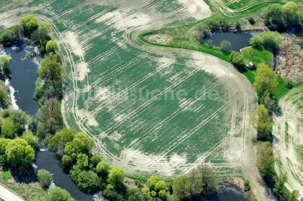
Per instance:
[[[249,46],[249,39],[252,37],[249,33],[234,32],[234,31],[221,31],[216,32],[211,36],[207,36],[201,42],[209,45],[220,47],[220,43],[224,40],[231,43],[231,50],[240,51],[240,49]],[[211,40],[211,41],[209,41]]]

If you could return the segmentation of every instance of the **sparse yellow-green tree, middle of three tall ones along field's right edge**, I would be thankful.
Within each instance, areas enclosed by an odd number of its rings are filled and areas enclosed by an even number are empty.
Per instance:
[[[263,104],[258,105],[251,114],[251,122],[257,126],[258,139],[269,140],[273,126],[272,116],[269,115],[268,109]]]

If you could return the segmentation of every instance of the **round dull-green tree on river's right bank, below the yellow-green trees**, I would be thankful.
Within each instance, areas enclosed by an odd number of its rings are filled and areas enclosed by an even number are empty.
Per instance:
[[[86,193],[94,193],[98,188],[98,175],[93,171],[82,171],[78,174],[77,185]]]

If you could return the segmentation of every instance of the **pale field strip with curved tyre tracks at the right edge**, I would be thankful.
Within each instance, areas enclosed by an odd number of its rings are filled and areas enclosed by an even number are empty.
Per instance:
[[[275,117],[273,146],[276,150],[278,173],[287,173],[289,190],[299,190],[303,196],[303,110],[302,87],[289,91],[279,100],[282,115]],[[301,105],[301,106],[300,106]]]

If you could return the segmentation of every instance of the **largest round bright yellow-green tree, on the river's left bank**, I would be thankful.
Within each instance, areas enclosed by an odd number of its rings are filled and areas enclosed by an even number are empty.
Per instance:
[[[5,150],[7,162],[15,167],[29,167],[35,160],[35,151],[21,138],[11,140]]]

